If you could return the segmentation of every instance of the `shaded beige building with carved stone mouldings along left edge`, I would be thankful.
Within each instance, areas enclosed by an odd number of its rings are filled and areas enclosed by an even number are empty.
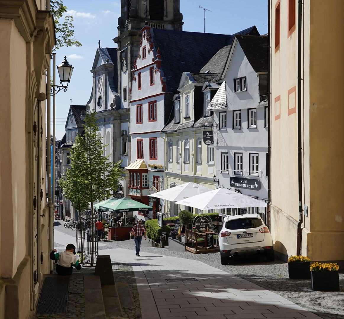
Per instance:
[[[49,10],[45,1],[0,1],[1,319],[28,318],[50,270],[45,100],[56,39]]]

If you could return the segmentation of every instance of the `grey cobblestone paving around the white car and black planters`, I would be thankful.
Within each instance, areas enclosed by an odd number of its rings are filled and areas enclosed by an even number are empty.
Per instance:
[[[55,227],[61,232],[75,237],[75,232],[65,229],[63,225]],[[110,248],[124,248],[135,250],[135,243],[130,241],[104,242],[106,246],[99,247],[99,251]],[[239,276],[261,287],[264,287],[293,303],[307,309],[324,319],[344,319],[344,273],[340,272],[339,292],[314,292],[310,280],[289,280],[288,264],[275,260],[266,262],[264,257],[238,258],[232,265],[223,266],[219,253],[192,254],[189,252],[171,252],[167,249],[148,247],[149,243],[142,242],[141,251],[156,253],[165,256],[174,256],[191,260],[202,261],[205,264]]]

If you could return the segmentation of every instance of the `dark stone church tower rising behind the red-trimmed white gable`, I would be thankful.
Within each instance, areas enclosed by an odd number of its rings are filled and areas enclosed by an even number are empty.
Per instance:
[[[118,45],[118,93],[121,96],[121,108],[129,106],[129,83],[142,37],[140,30],[148,23],[152,29],[183,31],[179,1],[121,0],[118,36],[114,38]]]

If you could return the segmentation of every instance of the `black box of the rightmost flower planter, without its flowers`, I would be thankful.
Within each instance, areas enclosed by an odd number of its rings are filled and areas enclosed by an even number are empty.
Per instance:
[[[338,291],[338,271],[311,271],[312,289],[316,291]]]

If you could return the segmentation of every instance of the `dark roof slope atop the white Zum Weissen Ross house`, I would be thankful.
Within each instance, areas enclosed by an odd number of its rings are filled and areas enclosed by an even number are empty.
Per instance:
[[[248,61],[256,72],[268,71],[268,37],[236,35]]]

